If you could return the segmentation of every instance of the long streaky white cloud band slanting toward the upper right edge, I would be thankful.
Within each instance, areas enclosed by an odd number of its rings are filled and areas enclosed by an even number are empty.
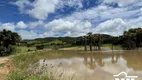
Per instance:
[[[107,5],[101,4],[98,7],[93,7],[88,10],[74,12],[73,14],[65,17],[67,20],[88,20],[92,23],[100,23],[104,20],[115,18],[131,18],[132,16],[142,15],[140,9],[132,9],[131,7],[113,8]]]

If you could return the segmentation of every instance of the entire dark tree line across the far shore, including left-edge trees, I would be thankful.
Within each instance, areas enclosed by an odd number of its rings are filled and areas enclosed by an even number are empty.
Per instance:
[[[48,43],[47,46],[54,45],[55,47],[58,45],[61,47],[84,46],[85,51],[87,51],[88,46],[90,51],[101,50],[102,44],[112,44],[112,49],[113,45],[121,45],[123,49],[130,50],[142,47],[142,28],[129,29],[117,37],[89,32],[86,36],[80,37],[48,37],[23,41],[31,42],[28,44],[30,46],[36,44],[45,46],[45,43]],[[12,46],[18,45],[20,42],[21,37],[18,33],[5,29],[0,31],[0,56],[9,55],[13,50]]]

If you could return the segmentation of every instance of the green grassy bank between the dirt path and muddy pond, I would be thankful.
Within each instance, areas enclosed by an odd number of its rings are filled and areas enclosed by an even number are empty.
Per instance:
[[[49,80],[48,77],[31,74],[28,71],[30,65],[39,61],[40,57],[37,53],[23,53],[12,57],[15,69],[9,74],[8,80]]]

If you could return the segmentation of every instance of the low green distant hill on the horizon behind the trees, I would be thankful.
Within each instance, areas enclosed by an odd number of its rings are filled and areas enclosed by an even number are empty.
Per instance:
[[[106,34],[101,34],[101,35],[103,36],[104,43],[110,43],[112,36],[106,35]],[[66,42],[66,44],[73,44],[73,45],[82,44],[82,36],[79,36],[79,37],[46,37],[46,38],[37,38],[33,40],[24,40],[24,42],[27,42],[33,45],[35,44],[48,45],[48,43],[54,40],[60,40],[60,41]]]

